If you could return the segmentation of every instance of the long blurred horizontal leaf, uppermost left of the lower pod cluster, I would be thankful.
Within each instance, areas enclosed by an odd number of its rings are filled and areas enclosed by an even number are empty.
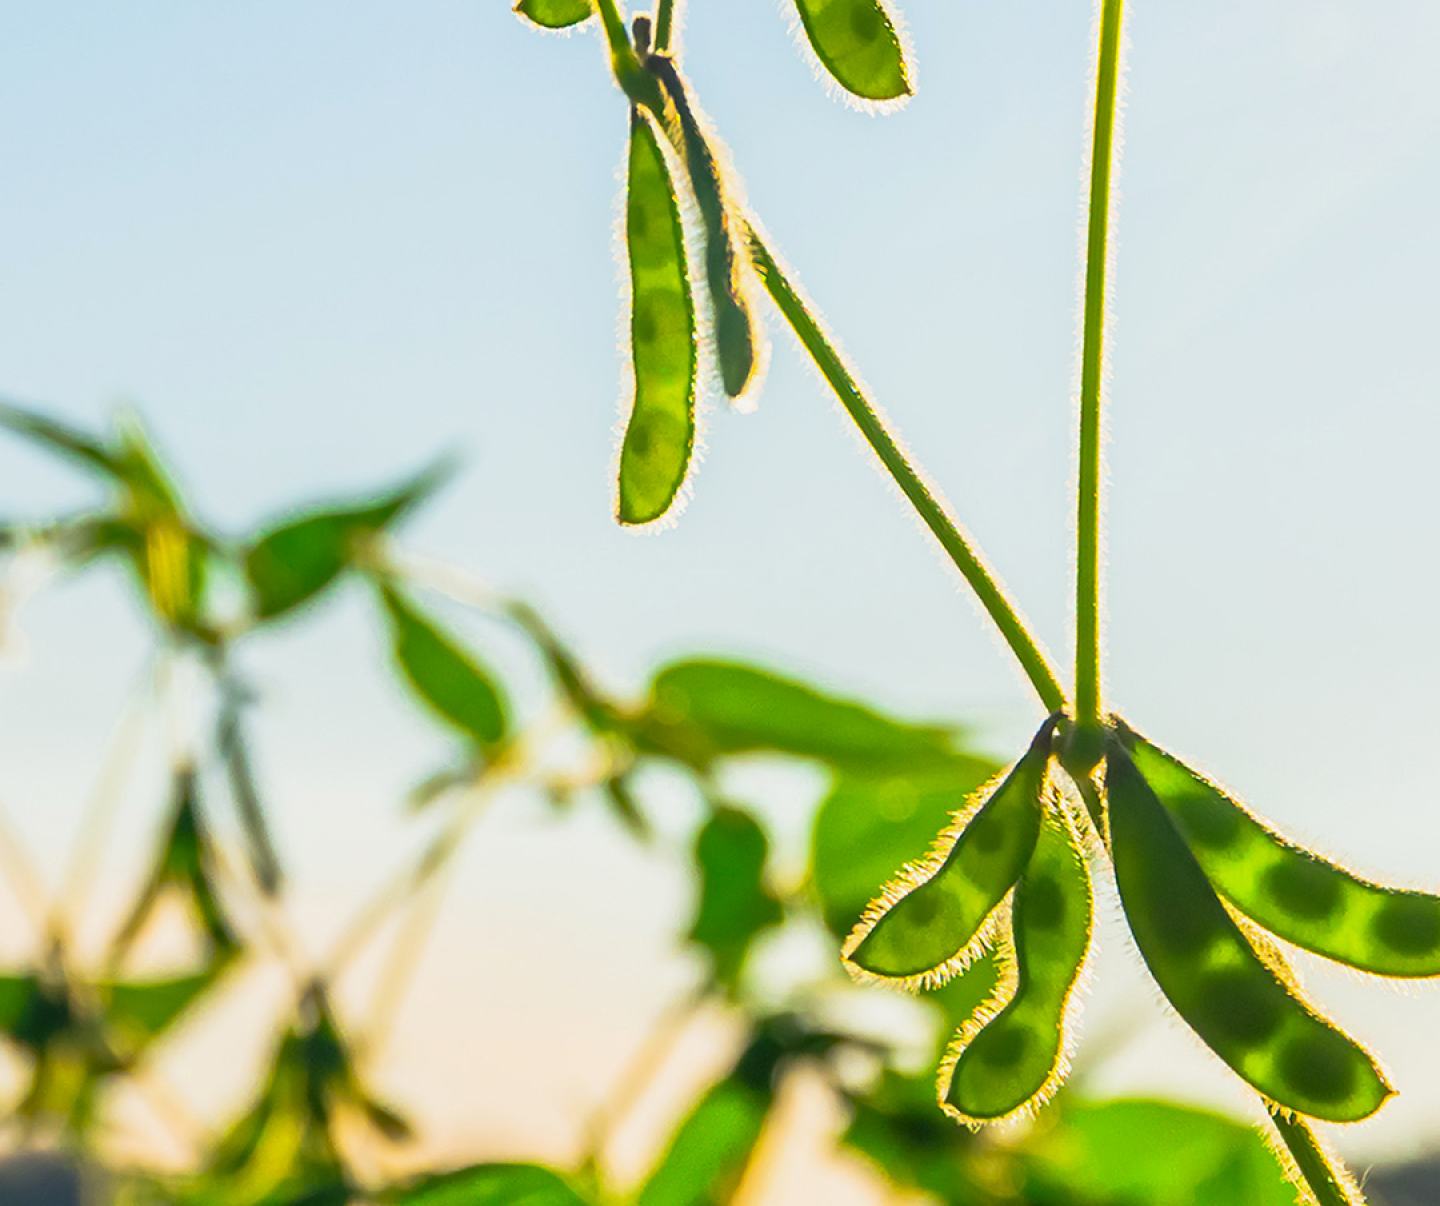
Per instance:
[[[896,721],[757,666],[708,658],[664,666],[644,721],[658,753],[697,767],[775,753],[881,773],[959,757],[950,728]]]

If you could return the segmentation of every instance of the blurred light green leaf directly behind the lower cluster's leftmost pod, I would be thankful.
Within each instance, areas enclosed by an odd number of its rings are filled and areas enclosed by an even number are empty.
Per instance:
[[[881,884],[923,858],[950,815],[999,767],[976,756],[919,774],[841,776],[815,815],[811,868],[825,924],[845,937]]]

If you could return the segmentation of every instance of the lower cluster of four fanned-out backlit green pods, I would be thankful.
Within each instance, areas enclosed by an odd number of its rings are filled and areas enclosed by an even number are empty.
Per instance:
[[[1007,974],[959,1028],[939,1098],[989,1123],[1044,1104],[1066,1071],[1066,1015],[1090,951],[1103,849],[1140,956],[1194,1032],[1273,1107],[1349,1123],[1392,1089],[1300,993],[1273,938],[1378,976],[1440,974],[1440,897],[1387,888],[1286,840],[1112,718],[1103,757],[1061,769],[1068,722],[958,813],[845,944],[852,974],[930,987],[995,951]]]

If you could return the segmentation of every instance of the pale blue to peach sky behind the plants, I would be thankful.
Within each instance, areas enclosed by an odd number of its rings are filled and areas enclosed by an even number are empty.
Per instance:
[[[827,95],[775,0],[690,9],[685,65],[755,210],[1067,661],[1089,6],[910,0],[919,95],[884,118]],[[1136,3],[1129,36],[1112,702],[1296,836],[1434,885],[1440,9]],[[683,650],[755,655],[1014,750],[1024,682],[778,325],[759,412],[708,416],[681,524],[612,524],[624,132],[595,32],[543,36],[501,0],[12,0],[0,391],[84,423],[134,403],[236,530],[459,449],[409,545],[539,603],[616,686]],[[0,514],[85,499],[0,442]],[[321,921],[418,840],[396,799],[446,753],[376,649],[354,593],[249,665]],[[48,865],[141,659],[115,583],[22,613],[0,800]],[[121,829],[121,871],[143,845]],[[606,823],[503,809],[389,1079],[445,1085],[422,1117],[456,1153],[563,1154],[687,981],[665,950],[685,908]],[[1104,1087],[1241,1101],[1107,938],[1087,1022],[1148,1025]],[[1440,1141],[1440,989],[1309,980],[1401,1088],[1346,1148]]]

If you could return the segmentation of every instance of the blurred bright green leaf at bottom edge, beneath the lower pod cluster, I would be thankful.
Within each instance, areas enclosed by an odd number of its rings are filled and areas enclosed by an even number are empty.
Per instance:
[[[1295,1206],[1260,1133],[1164,1101],[1070,1104],[1037,1130],[1024,1160],[1057,1202],[1106,1206]],[[1048,1197],[1045,1200],[1050,1200]]]

